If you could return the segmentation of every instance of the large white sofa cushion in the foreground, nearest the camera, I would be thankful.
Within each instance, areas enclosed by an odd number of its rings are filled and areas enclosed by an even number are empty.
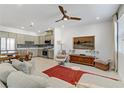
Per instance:
[[[44,88],[48,79],[41,76],[28,75],[21,71],[12,72],[7,78],[9,88]]]

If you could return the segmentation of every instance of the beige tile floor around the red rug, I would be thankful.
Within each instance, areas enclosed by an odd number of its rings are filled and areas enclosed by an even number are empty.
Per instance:
[[[36,74],[36,75],[40,75],[42,73],[42,71],[47,70],[50,67],[58,65],[58,62],[56,62],[52,59],[41,58],[41,57],[35,57],[32,59],[31,62],[33,64],[32,74]],[[114,71],[102,71],[95,67],[80,65],[80,64],[75,64],[75,63],[69,63],[69,62],[67,62],[65,64],[65,66],[67,66],[67,67],[76,66],[76,67],[80,67],[80,69],[83,71],[89,71],[89,72],[97,73],[100,75],[120,79],[118,73],[116,73]]]

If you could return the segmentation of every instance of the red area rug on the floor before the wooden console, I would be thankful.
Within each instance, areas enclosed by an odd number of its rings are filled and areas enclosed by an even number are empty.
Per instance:
[[[62,79],[66,82],[69,82],[73,85],[76,85],[80,79],[80,77],[85,73],[80,70],[73,70],[71,68],[63,67],[63,66],[55,66],[43,73],[47,74],[50,77],[56,77]]]

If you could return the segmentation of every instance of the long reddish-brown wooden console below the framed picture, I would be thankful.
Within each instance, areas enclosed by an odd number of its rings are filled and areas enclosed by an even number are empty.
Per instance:
[[[78,63],[83,65],[94,66],[94,57],[82,55],[69,55],[71,63]]]

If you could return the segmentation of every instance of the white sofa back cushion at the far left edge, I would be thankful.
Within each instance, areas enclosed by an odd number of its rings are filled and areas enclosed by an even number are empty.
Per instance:
[[[13,71],[17,70],[13,68],[11,64],[9,63],[0,64],[0,80],[4,83],[7,83],[7,77]]]

